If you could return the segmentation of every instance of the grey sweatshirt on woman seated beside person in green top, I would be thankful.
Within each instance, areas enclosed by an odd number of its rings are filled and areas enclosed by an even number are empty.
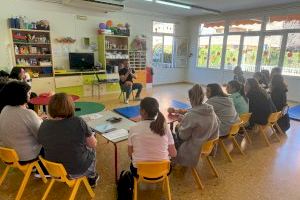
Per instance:
[[[220,136],[227,135],[230,126],[240,120],[232,99],[229,97],[214,96],[208,99],[206,103],[213,106],[214,111],[221,122]]]

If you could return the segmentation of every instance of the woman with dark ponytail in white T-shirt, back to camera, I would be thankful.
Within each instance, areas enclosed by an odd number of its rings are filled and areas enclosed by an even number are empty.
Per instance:
[[[146,97],[140,107],[142,121],[130,128],[128,136],[128,155],[132,159],[130,170],[134,176],[137,176],[137,162],[169,160],[177,154],[158,101]]]

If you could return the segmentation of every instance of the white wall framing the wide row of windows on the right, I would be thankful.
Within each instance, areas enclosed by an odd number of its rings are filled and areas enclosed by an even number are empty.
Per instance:
[[[262,16],[266,14],[287,14],[299,13],[300,3],[285,5],[282,7],[274,7],[268,9],[249,10],[243,12],[234,12],[219,16],[202,16],[193,17],[189,19],[189,32],[190,32],[190,52],[193,56],[189,60],[189,67],[186,72],[187,81],[200,84],[208,83],[226,83],[232,80],[233,74],[230,70],[216,70],[216,69],[201,69],[197,68],[197,44],[198,44],[198,27],[203,21],[213,21],[220,19],[243,19],[246,17]],[[253,73],[246,73],[246,77],[251,77]],[[285,76],[285,80],[289,86],[288,99],[300,102],[300,77]]]

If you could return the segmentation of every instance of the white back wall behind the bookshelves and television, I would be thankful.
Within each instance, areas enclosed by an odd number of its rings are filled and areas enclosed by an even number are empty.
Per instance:
[[[49,20],[55,68],[68,68],[68,52],[86,51],[85,49],[82,49],[83,37],[90,37],[92,42],[97,42],[98,24],[100,22],[106,22],[108,19],[113,20],[116,24],[124,24],[128,22],[131,29],[131,39],[133,39],[136,35],[141,34],[147,36],[148,63],[151,61],[153,20],[175,23],[175,32],[177,36],[186,36],[187,29],[187,21],[184,18],[149,13],[147,11],[137,13],[133,10],[127,10],[104,14],[83,9],[65,8],[61,5],[38,1],[1,0],[0,70],[4,69],[9,71],[12,67],[12,47],[10,44],[10,33],[7,27],[7,18],[20,15],[26,16],[35,21],[41,19]],[[87,16],[87,20],[78,20],[76,15]],[[76,43],[72,45],[62,45],[55,42],[55,38],[67,36],[75,38],[77,40]],[[97,57],[97,53],[95,53],[95,55]],[[156,68],[154,71],[154,84],[172,83],[178,82],[178,80],[185,80],[184,69],[173,70]],[[167,75],[168,78],[165,78],[164,75]]]

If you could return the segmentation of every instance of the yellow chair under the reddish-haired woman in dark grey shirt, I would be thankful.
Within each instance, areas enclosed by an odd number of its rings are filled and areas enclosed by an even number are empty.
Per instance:
[[[50,162],[48,160],[45,160],[41,156],[40,156],[40,160],[42,161],[43,165],[46,167],[47,171],[49,172],[49,174],[52,177],[42,200],[45,200],[47,198],[55,181],[66,183],[70,188],[73,188],[69,200],[73,200],[75,198],[81,182],[84,183],[89,195],[92,198],[95,197],[95,193],[92,190],[92,188],[85,176],[77,178],[77,179],[68,179],[68,177],[67,177],[68,174],[62,164]]]

